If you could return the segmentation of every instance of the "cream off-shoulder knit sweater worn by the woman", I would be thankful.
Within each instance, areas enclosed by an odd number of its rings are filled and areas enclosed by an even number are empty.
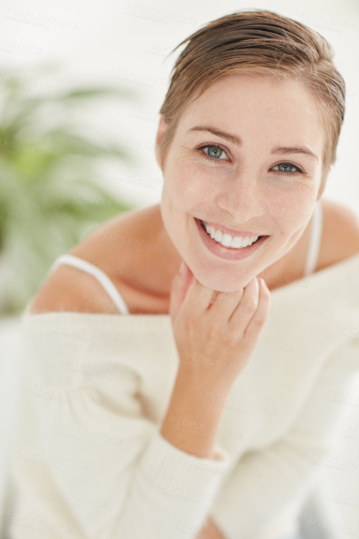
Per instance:
[[[271,294],[230,399],[209,397],[224,407],[214,461],[159,433],[178,368],[169,315],[26,313],[2,537],[179,539],[208,514],[233,539],[295,533],[337,421],[359,406],[346,394],[359,368],[359,254]]]

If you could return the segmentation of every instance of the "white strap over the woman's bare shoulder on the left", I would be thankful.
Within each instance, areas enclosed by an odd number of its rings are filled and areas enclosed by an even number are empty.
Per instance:
[[[107,294],[110,296],[115,306],[119,309],[120,313],[127,315],[128,309],[125,301],[118,291],[118,289],[113,284],[112,280],[104,273],[100,268],[94,266],[87,262],[87,260],[82,260],[82,258],[74,257],[72,254],[61,254],[50,266],[49,273],[54,271],[61,264],[68,264],[70,266],[77,267],[82,271],[89,273],[97,279],[103,288],[105,288]]]

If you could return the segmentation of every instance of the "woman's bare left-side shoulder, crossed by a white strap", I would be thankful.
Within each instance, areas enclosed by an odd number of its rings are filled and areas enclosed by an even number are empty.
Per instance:
[[[131,235],[144,226],[144,217],[126,213],[109,219],[89,234],[70,254],[95,265],[105,272],[116,288],[121,287],[120,272],[116,269],[128,266],[129,251],[116,248],[115,241],[103,238],[119,238]],[[128,279],[127,279],[128,280]],[[120,292],[120,289],[119,289]],[[113,300],[93,275],[77,267],[62,264],[44,281],[34,296],[30,313],[78,312],[93,314],[118,314]]]

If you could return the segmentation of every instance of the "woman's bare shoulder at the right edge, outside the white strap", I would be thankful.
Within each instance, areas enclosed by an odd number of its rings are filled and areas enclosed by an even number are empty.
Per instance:
[[[316,271],[359,253],[359,218],[346,206],[322,199],[323,228]]]

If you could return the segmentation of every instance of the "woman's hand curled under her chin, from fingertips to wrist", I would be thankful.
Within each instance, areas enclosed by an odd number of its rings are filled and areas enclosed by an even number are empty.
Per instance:
[[[172,281],[170,316],[180,369],[230,384],[243,371],[267,319],[270,291],[264,280],[252,279],[237,292],[221,293],[201,285],[182,262]],[[226,370],[226,365],[231,369]],[[223,372],[223,376],[218,373]]]

